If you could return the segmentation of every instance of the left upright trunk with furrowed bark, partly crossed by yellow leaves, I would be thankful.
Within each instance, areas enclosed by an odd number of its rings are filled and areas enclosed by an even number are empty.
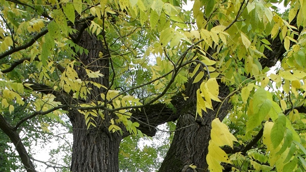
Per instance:
[[[86,26],[83,26],[85,28]],[[105,87],[109,86],[109,53],[106,45],[102,43],[97,36],[88,34],[84,29],[77,28],[80,31],[78,45],[87,49],[88,54],[78,54],[78,61],[81,64],[75,67],[80,79],[90,80]],[[84,32],[82,32],[84,31]],[[102,52],[103,57],[99,57]],[[88,78],[85,69],[98,71],[104,76],[99,78]],[[77,99],[76,102],[97,104],[98,101],[103,102],[100,94],[105,89],[98,88],[92,84],[88,84],[92,88],[90,94],[87,94],[86,100]],[[78,110],[68,110],[68,116],[73,127],[73,148],[71,172],[119,172],[118,154],[119,143],[122,136],[115,132],[110,133],[108,126],[110,119],[115,118],[113,114],[103,112],[105,119],[101,117],[93,117],[95,125],[87,129],[85,116]]]

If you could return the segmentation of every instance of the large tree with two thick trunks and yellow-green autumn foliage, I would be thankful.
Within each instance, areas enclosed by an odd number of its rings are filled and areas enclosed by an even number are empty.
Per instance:
[[[72,172],[176,120],[159,172],[305,171],[306,2],[278,2],[0,0],[0,129],[27,172],[20,133],[66,115]]]

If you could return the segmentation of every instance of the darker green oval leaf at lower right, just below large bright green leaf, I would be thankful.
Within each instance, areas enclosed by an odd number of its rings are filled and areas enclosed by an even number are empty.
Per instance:
[[[285,131],[286,116],[284,114],[279,114],[271,130],[271,141],[274,148],[277,148],[283,140]]]

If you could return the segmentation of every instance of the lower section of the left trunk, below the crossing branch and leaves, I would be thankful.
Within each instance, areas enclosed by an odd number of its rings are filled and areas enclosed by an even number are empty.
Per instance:
[[[119,172],[117,132],[110,133],[103,124],[86,129],[84,115],[73,112],[73,147],[71,172]]]

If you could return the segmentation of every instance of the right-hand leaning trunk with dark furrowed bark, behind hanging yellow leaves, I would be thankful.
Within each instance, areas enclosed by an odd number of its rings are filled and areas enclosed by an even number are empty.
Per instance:
[[[200,82],[201,83],[201,82]],[[227,86],[219,83],[220,97],[226,97],[229,94]],[[195,90],[199,84],[187,87],[187,95],[190,98],[189,103],[185,105],[185,110],[179,112],[181,115],[176,125],[176,131],[170,149],[163,161],[159,172],[185,172],[185,166],[190,164],[197,166],[197,172],[206,172],[206,155],[208,153],[208,142],[210,140],[211,122],[216,118],[223,120],[227,115],[231,105],[228,100],[221,105],[219,102],[213,102],[213,110],[207,110],[203,113],[203,118],[196,114]]]

